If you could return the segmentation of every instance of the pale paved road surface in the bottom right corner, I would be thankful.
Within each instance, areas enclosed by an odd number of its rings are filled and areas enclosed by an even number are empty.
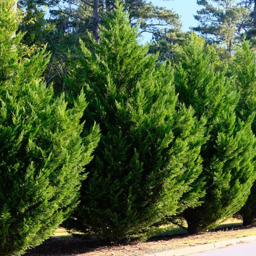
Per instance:
[[[256,242],[237,244],[209,252],[191,254],[190,256],[256,256]]]

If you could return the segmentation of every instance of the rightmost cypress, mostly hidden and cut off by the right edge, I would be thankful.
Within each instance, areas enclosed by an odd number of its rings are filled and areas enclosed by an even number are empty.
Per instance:
[[[237,106],[238,115],[246,120],[256,111],[256,64],[255,52],[251,50],[252,44],[243,41],[235,51],[233,76],[236,88],[240,92],[240,101]],[[253,133],[256,134],[256,119],[252,123]],[[246,204],[236,214],[243,220],[243,225],[255,225],[256,223],[256,183],[253,184],[250,196]]]

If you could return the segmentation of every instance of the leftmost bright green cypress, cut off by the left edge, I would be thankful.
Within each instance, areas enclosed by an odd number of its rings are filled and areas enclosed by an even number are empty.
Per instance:
[[[0,255],[48,238],[76,207],[99,128],[83,139],[84,94],[67,108],[40,81],[49,55],[28,58],[13,1],[0,4]]]

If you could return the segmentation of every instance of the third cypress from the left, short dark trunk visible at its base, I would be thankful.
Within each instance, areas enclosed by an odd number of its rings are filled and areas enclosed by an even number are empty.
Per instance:
[[[207,118],[207,143],[201,148],[206,194],[204,203],[183,212],[188,231],[196,233],[213,228],[232,216],[246,202],[255,180],[255,136],[251,130],[254,116],[238,119],[235,109],[239,95],[231,90],[225,70],[216,72],[211,46],[193,34],[177,53],[175,85],[179,100],[195,109],[198,118]]]

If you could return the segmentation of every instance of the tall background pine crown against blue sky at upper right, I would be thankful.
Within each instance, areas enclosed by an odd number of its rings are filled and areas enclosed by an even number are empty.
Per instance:
[[[194,15],[199,21],[195,31],[199,31],[210,42],[223,44],[229,52],[237,38],[241,39],[252,25],[251,4],[237,3],[235,0],[197,0],[203,6]]]

